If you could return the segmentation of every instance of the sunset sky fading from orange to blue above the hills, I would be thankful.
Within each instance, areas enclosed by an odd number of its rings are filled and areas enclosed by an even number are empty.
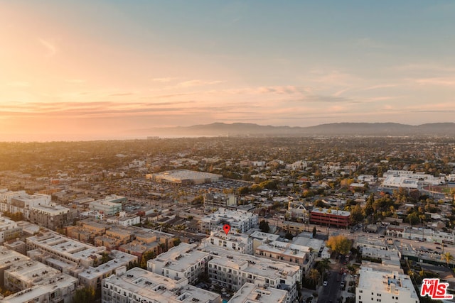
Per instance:
[[[0,0],[0,141],[455,122],[455,1]]]

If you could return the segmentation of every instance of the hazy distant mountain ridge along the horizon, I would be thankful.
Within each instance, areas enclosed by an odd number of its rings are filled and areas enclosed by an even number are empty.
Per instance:
[[[127,131],[136,136],[455,136],[455,123],[328,123],[309,127],[211,123]]]

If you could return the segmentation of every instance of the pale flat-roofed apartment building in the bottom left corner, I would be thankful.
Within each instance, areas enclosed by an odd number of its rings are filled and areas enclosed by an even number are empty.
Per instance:
[[[79,285],[75,277],[65,275],[33,260],[22,260],[5,270],[5,288],[16,292],[1,302],[73,302]]]

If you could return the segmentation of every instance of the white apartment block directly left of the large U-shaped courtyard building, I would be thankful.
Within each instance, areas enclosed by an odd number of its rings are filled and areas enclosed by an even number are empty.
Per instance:
[[[180,243],[147,262],[147,270],[173,280],[188,279],[194,285],[205,272],[210,254],[196,250],[196,244]]]

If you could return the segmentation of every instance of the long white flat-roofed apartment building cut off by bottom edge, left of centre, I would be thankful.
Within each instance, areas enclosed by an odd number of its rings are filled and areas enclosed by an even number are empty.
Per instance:
[[[101,302],[221,303],[222,299],[220,294],[188,285],[185,278],[173,280],[141,268],[119,268],[102,280]]]

